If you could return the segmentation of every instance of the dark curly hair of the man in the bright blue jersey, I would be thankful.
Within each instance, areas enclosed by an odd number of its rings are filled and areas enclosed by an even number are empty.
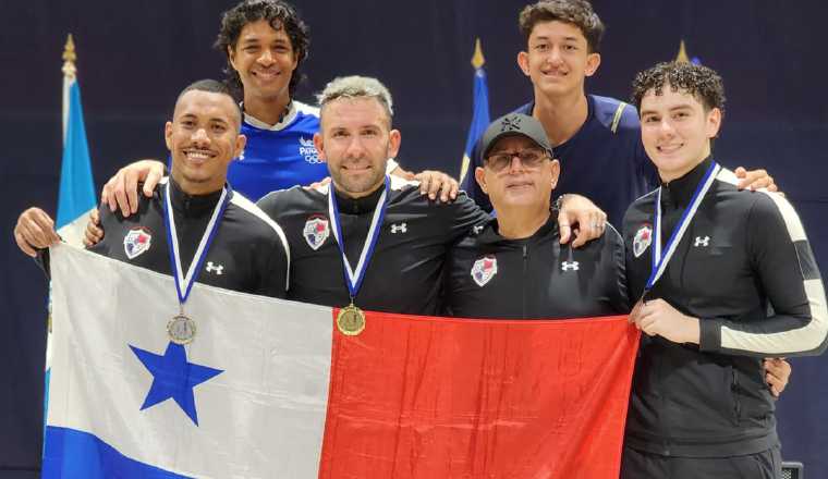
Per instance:
[[[296,9],[284,0],[244,0],[224,12],[221,16],[221,28],[214,47],[227,56],[224,66],[226,83],[239,99],[244,97],[244,85],[239,73],[230,63],[230,51],[235,49],[242,28],[248,23],[266,20],[276,30],[284,28],[296,56],[296,69],[291,75],[288,90],[291,98],[296,91],[299,84],[305,78],[302,73],[302,63],[307,59],[310,34],[305,22],[299,16]]]

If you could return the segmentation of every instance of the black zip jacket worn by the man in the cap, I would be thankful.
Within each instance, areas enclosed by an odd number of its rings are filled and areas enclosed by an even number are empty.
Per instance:
[[[491,219],[451,250],[446,314],[464,318],[576,318],[629,311],[624,244],[611,225],[572,249],[556,214],[525,240],[506,240]]]

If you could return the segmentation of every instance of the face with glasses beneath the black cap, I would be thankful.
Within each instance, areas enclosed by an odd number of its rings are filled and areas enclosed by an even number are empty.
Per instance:
[[[508,163],[503,161],[507,157]],[[535,142],[520,135],[499,139],[484,168],[475,170],[475,179],[496,211],[515,207],[548,210],[559,173],[558,160],[550,160]]]

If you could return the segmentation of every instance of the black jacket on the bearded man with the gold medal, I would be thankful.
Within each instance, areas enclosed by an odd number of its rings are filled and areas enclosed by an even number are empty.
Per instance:
[[[453,202],[435,202],[419,194],[417,183],[390,177],[385,221],[354,304],[375,311],[436,315],[448,249],[488,214],[463,193]],[[354,269],[381,193],[382,188],[356,200],[337,195],[345,251]],[[258,206],[288,236],[292,255],[288,297],[348,305],[350,293],[328,214],[328,187],[273,192]]]

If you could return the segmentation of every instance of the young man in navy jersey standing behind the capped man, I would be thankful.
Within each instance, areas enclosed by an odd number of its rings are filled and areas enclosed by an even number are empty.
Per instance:
[[[526,50],[518,65],[529,77],[534,98],[515,112],[544,125],[564,172],[556,193],[577,193],[592,199],[618,225],[626,207],[657,184],[655,170],[641,144],[635,108],[614,98],[586,95],[584,82],[600,65],[604,24],[586,0],[550,0],[527,5],[520,14]],[[467,171],[483,167],[479,151]],[[769,186],[762,170],[745,174],[743,186]],[[474,176],[461,179],[478,205],[491,206]]]

